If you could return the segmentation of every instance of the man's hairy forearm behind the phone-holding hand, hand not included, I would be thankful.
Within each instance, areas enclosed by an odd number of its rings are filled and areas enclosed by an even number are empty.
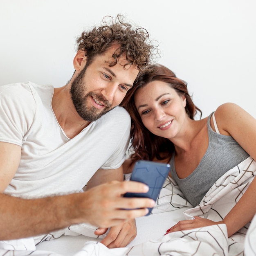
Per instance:
[[[18,239],[48,233],[70,225],[71,197],[34,200],[0,193],[0,240]]]

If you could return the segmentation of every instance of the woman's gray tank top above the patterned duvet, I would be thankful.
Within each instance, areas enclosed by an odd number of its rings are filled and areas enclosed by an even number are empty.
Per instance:
[[[217,133],[218,128],[216,122],[215,127],[217,132],[213,131],[210,126],[211,115],[209,115],[207,120],[209,145],[193,173],[184,179],[180,179],[175,170],[175,153],[173,153],[170,162],[173,179],[179,185],[186,199],[193,206],[200,203],[207,191],[222,175],[249,157],[247,152],[233,137]]]

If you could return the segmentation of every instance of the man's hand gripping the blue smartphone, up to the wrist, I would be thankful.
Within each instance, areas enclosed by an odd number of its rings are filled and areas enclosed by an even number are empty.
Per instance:
[[[140,182],[112,181],[80,193],[76,207],[76,223],[89,222],[108,228],[124,225],[128,220],[144,216],[155,202],[150,198],[124,198],[127,192],[146,193],[148,186]]]

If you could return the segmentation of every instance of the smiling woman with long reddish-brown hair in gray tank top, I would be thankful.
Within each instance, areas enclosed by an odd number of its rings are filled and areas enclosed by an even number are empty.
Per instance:
[[[122,106],[132,118],[130,162],[170,160],[171,177],[192,205],[198,205],[229,169],[249,156],[256,159],[256,119],[236,104],[225,103],[209,117],[194,120],[195,114],[202,112],[189,96],[186,83],[168,68],[153,65],[129,94]],[[253,179],[222,221],[195,216],[195,220],[178,222],[168,232],[224,223],[231,236],[252,220],[255,198]]]

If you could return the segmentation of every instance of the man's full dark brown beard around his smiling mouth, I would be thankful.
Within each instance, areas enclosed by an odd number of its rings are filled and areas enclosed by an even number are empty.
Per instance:
[[[85,76],[86,68],[87,66],[85,65],[83,70],[81,70],[81,72],[78,74],[78,76],[76,76],[76,78],[72,82],[70,94],[76,112],[79,114],[79,116],[83,118],[83,120],[85,121],[92,122],[105,115],[108,111],[112,110],[112,108],[109,101],[106,101],[106,99],[104,99],[101,94],[95,94],[93,92],[85,94],[86,86],[85,82],[83,81],[83,78]],[[103,103],[105,105],[105,108],[103,108],[103,110],[95,108],[94,106],[88,108],[87,102],[91,100],[90,97],[94,97],[98,101]]]

